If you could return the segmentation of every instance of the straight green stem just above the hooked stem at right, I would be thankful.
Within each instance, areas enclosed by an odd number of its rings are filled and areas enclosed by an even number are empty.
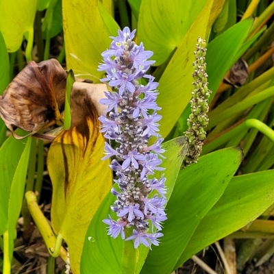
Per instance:
[[[218,116],[210,117],[210,125],[208,125],[208,129],[211,129],[215,125],[218,125],[225,119],[228,119],[230,116],[237,114],[241,112],[242,110],[246,110],[247,108],[251,107],[252,105],[255,105],[256,103],[259,103],[260,101],[263,101],[264,99],[267,99],[269,97],[274,96],[274,86],[271,86],[270,88],[266,88],[266,90],[260,92],[259,94],[253,95],[252,97],[249,97],[243,101],[240,101],[239,103],[236,103],[236,105],[233,105],[230,108],[227,108],[221,114]]]

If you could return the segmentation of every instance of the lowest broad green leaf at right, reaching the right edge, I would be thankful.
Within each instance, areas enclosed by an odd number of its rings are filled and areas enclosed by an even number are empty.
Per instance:
[[[223,196],[204,216],[180,260],[255,220],[274,203],[274,171],[233,177]]]

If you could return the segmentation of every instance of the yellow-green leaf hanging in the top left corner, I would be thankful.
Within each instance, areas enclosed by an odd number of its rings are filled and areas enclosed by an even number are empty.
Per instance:
[[[30,36],[33,36],[36,8],[37,0],[0,1],[0,31],[9,52],[21,47],[26,32],[29,34],[29,40],[33,39]]]

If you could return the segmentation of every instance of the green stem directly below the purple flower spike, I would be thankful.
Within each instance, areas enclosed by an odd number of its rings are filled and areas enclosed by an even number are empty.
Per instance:
[[[129,231],[126,229],[125,238],[129,236]],[[136,265],[139,259],[139,250],[134,248],[132,240],[123,241],[122,254],[122,274],[133,274],[136,270]]]

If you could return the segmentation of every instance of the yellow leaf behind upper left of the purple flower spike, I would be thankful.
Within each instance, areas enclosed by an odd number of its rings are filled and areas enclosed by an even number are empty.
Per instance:
[[[62,3],[67,68],[73,69],[75,76],[81,75],[95,82],[99,82],[103,75],[97,71],[101,53],[110,47],[109,36],[116,36],[119,29],[108,12],[102,18],[98,1],[90,1],[88,5],[80,0]],[[110,32],[110,29],[116,31]]]

